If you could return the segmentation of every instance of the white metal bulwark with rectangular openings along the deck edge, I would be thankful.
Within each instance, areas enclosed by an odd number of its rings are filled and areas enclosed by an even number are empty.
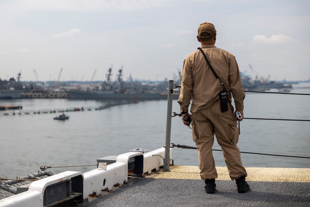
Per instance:
[[[128,174],[143,177],[163,166],[165,148],[148,152],[128,152],[118,155],[111,164],[98,163],[100,168],[86,173],[66,171],[34,181],[27,191],[0,200],[0,207],[43,207],[69,202],[81,198],[83,203],[91,196],[98,196],[102,190],[110,191],[113,186],[128,182]],[[172,150],[170,149],[170,164]],[[106,168],[102,168],[102,166]]]

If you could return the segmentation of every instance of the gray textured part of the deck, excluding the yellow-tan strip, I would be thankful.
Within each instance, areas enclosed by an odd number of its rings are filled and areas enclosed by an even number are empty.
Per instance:
[[[309,206],[308,182],[248,181],[251,190],[237,193],[234,181],[217,180],[215,194],[197,179],[130,178],[117,191],[82,206]],[[81,206],[81,205],[79,205]]]

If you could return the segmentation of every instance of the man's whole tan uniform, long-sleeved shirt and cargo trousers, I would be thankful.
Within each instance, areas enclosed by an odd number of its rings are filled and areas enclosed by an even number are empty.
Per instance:
[[[219,92],[223,90],[221,82],[215,78],[200,50],[190,54],[183,65],[180,111],[188,111],[191,98],[193,116],[193,141],[198,148],[201,179],[217,178],[212,155],[214,134],[222,147],[228,172],[232,180],[247,176],[242,166],[237,142],[239,130],[233,115],[232,97],[236,110],[243,110],[245,97],[241,84],[240,71],[235,57],[215,45],[202,46],[212,68],[219,76],[228,92],[230,110],[221,112]]]

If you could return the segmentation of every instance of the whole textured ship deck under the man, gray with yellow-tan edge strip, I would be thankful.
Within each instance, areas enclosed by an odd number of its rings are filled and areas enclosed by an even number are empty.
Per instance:
[[[310,169],[246,168],[246,193],[237,193],[227,167],[216,169],[214,194],[204,191],[198,166],[171,166],[170,172],[129,178],[126,185],[76,206],[310,206]]]

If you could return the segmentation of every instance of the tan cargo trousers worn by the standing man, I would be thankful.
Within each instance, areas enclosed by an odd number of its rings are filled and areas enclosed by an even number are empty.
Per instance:
[[[247,176],[242,166],[239,148],[239,130],[233,116],[233,106],[221,112],[220,101],[215,101],[210,107],[197,113],[192,113],[193,141],[198,148],[200,176],[202,180],[217,178],[215,162],[212,155],[214,134],[222,148],[229,176],[232,180]],[[228,107],[229,108],[229,107]]]

